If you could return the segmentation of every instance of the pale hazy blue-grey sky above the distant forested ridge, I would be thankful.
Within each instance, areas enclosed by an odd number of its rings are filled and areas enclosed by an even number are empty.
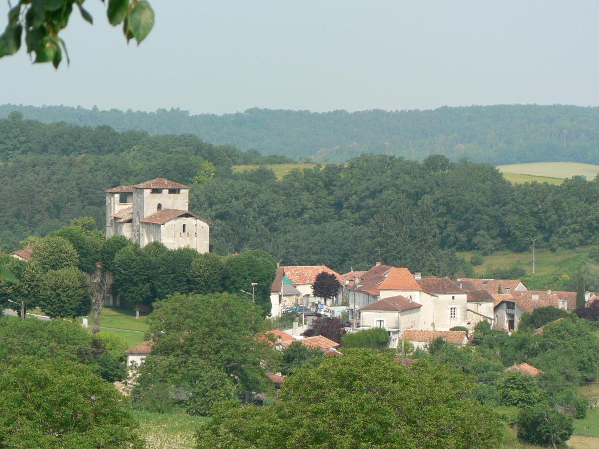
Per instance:
[[[99,0],[58,71],[0,59],[0,104],[226,113],[471,104],[599,105],[599,2],[150,0],[126,45]],[[7,23],[0,2],[0,27]]]

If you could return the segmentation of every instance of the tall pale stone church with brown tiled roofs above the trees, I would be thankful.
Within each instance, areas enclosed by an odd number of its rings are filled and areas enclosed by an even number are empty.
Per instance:
[[[188,210],[189,186],[155,178],[105,192],[106,238],[124,235],[140,247],[161,242],[170,250],[208,252],[211,223]]]

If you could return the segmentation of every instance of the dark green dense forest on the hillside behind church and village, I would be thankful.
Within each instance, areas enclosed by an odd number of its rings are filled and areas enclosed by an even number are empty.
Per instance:
[[[382,260],[450,275],[461,268],[456,250],[524,251],[532,237],[552,249],[599,243],[598,180],[512,185],[491,165],[440,155],[420,163],[365,154],[280,181],[265,167],[231,169],[279,159],[193,135],[12,114],[0,120],[0,244],[14,250],[80,216],[101,230],[104,189],[153,177],[190,184],[190,209],[214,222],[217,253],[261,249],[288,265],[349,271]]]

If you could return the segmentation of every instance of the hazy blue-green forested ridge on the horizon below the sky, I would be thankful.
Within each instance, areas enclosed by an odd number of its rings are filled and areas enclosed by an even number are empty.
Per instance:
[[[195,134],[212,144],[237,145],[295,160],[345,162],[361,153],[422,161],[430,154],[494,165],[517,162],[599,163],[599,108],[497,105],[426,111],[285,111],[253,108],[243,113],[192,115],[179,109],[100,111],[65,106],[0,105],[40,122],[108,125],[117,131]]]

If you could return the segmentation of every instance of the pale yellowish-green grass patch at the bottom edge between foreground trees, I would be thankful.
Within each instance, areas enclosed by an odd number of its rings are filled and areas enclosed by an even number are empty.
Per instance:
[[[196,444],[195,432],[202,421],[200,416],[152,413],[134,410],[140,423],[139,435],[149,449],[192,448]]]

